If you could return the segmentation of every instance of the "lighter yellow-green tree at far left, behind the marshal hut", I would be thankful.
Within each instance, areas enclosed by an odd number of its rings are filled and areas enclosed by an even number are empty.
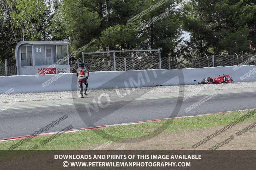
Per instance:
[[[1,60],[14,60],[19,41],[62,40],[59,5],[50,0],[1,0]]]

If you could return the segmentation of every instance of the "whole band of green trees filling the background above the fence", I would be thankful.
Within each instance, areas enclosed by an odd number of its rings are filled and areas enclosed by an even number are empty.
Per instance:
[[[14,61],[16,44],[26,40],[70,41],[70,53],[92,40],[85,52],[161,48],[162,57],[183,59],[254,53],[255,0],[169,0],[127,22],[159,2],[1,0],[0,61]]]

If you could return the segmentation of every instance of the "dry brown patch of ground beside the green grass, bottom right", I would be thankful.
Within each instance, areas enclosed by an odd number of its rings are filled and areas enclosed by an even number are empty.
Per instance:
[[[122,144],[108,141],[103,144],[84,147],[82,150],[208,150],[213,145],[226,140],[230,136],[234,136],[234,139],[228,144],[222,145],[217,150],[255,150],[256,127],[238,137],[236,136],[236,132],[246,128],[250,124],[252,123],[235,125],[232,129],[226,130],[195,149],[192,147],[194,144],[212,135],[216,130],[220,130],[224,126],[180,133],[170,133],[168,130],[165,130],[164,133],[146,141],[142,139],[139,143]]]

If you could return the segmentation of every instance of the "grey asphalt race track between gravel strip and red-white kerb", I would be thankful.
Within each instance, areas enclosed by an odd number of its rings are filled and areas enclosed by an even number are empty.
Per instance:
[[[217,95],[191,111],[185,112],[185,108],[212,92],[217,92]],[[186,92],[182,95],[189,93]],[[68,118],[50,128],[46,131],[47,133],[59,131],[70,124],[74,129],[79,129],[256,108],[255,88],[203,91],[183,102],[177,102],[179,95],[181,93],[131,95],[127,96],[125,100],[119,97],[110,97],[110,102],[103,97],[101,106],[107,107],[102,107],[99,111],[96,109],[91,112],[91,115],[88,114],[86,107],[93,106],[92,101],[93,99],[97,101],[97,98],[18,102],[0,112],[0,139],[31,135],[63,115],[68,115]],[[1,103],[0,106],[4,105],[6,103]],[[178,113],[173,113],[176,105],[180,107],[180,110]]]

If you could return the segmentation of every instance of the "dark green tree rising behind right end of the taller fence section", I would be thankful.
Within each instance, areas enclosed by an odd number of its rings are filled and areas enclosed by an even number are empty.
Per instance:
[[[146,10],[151,5],[155,5],[158,2],[160,1],[151,0],[143,10]],[[166,13],[164,18],[155,21],[153,24],[143,29],[139,33],[139,37],[145,37],[145,40],[142,42],[145,49],[161,48],[161,55],[167,57],[174,55],[175,48],[179,44],[178,42],[180,42],[180,36],[182,34],[180,11],[177,1],[167,1],[166,4],[162,4],[147,13],[141,18],[140,24],[145,24],[152,18],[164,13]]]

